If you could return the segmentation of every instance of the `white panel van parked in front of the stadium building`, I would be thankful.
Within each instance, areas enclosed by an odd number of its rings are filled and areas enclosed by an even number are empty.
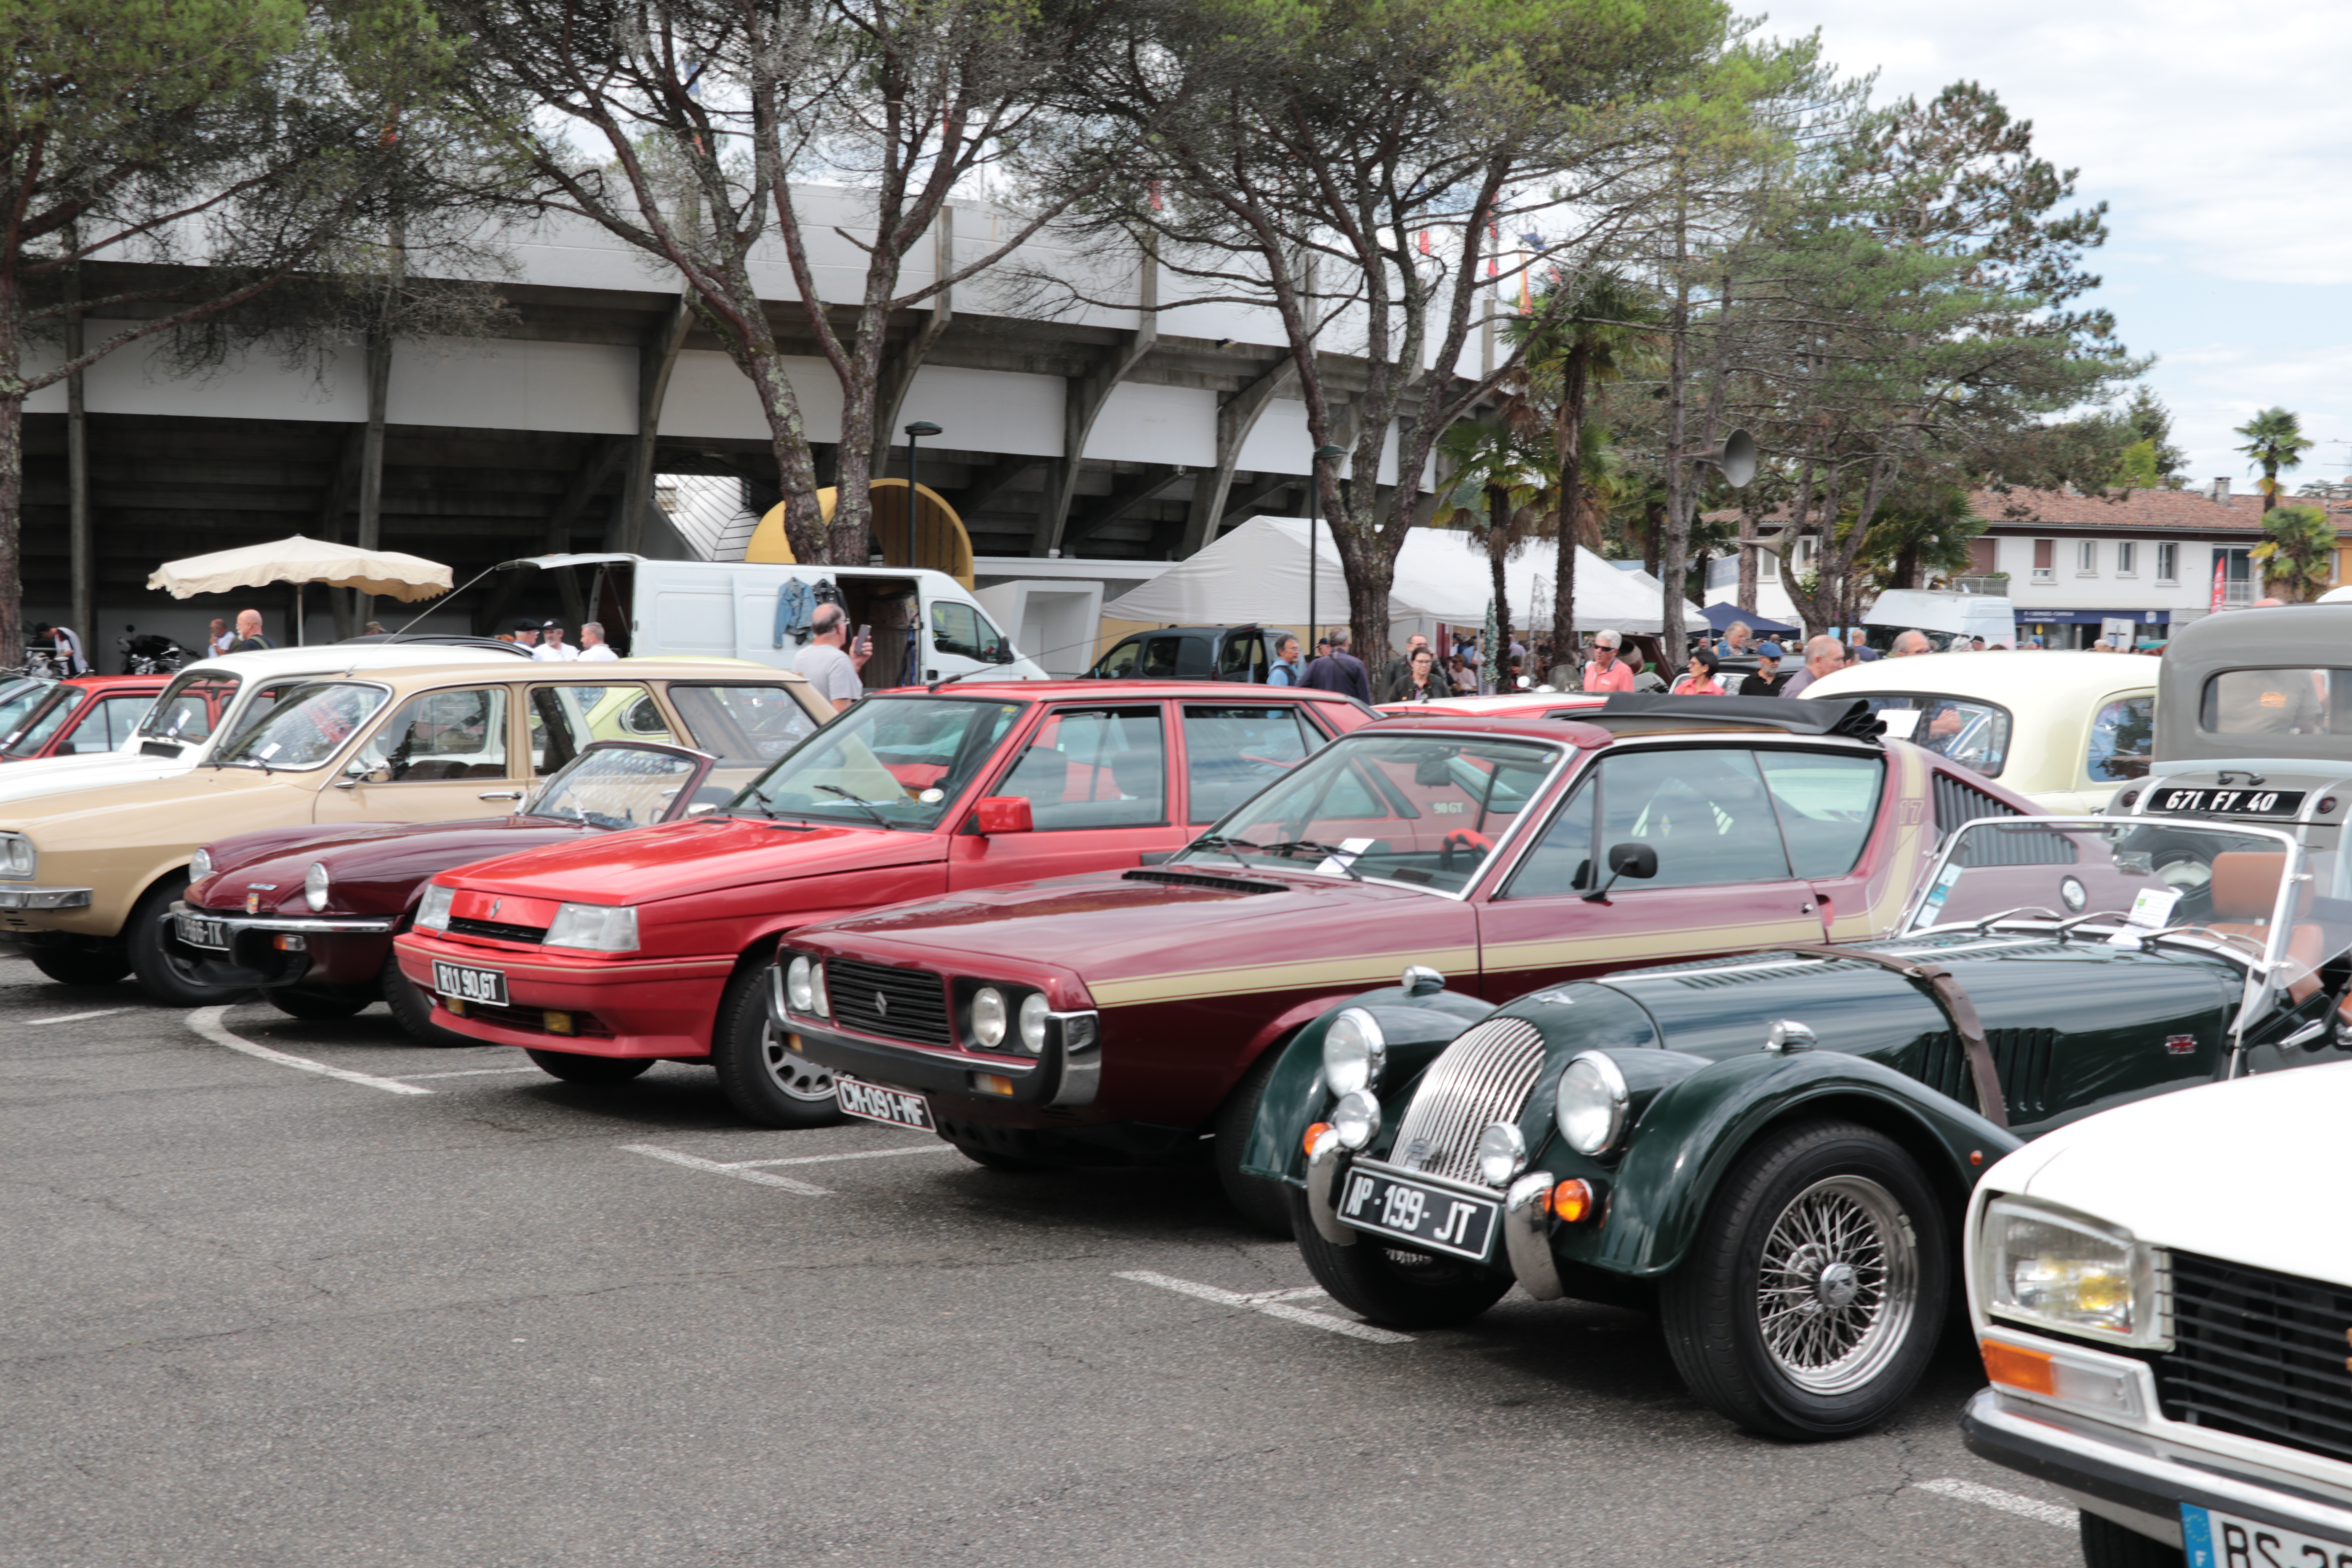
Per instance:
[[[753,562],[656,562],[644,555],[532,555],[501,571],[546,574],[522,590],[546,607],[579,604],[623,656],[699,654],[793,668],[804,642],[779,623],[786,583],[833,583],[851,625],[873,628],[866,689],[913,686],[953,675],[1047,679],[1000,632],[969,588],[946,571],[908,567],[767,567]],[[557,574],[572,574],[567,590]],[[574,597],[576,595],[576,597]]]

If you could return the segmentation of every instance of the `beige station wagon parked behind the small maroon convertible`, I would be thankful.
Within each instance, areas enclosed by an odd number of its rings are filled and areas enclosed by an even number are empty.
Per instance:
[[[755,764],[830,715],[786,670],[731,658],[433,663],[287,684],[193,771],[0,802],[0,933],[54,980],[125,971],[155,997],[233,997],[169,954],[200,844],[313,823],[501,816],[590,741],[673,741]]]

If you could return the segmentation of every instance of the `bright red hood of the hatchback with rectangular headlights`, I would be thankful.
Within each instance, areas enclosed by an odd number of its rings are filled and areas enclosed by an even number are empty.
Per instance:
[[[753,882],[917,865],[946,858],[936,832],[823,825],[753,816],[699,816],[626,832],[574,837],[548,849],[468,865],[456,886],[557,903],[659,903]]]

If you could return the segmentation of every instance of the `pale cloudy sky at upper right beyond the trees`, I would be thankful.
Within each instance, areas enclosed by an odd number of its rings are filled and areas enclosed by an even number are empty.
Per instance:
[[[2352,2],[1795,0],[1879,96],[1992,87],[2034,148],[2107,202],[2091,270],[2124,343],[2159,355],[2194,482],[2249,487],[2232,425],[2284,404],[2321,444],[2296,484],[2352,473]],[[2345,179],[2345,183],[2338,183]]]

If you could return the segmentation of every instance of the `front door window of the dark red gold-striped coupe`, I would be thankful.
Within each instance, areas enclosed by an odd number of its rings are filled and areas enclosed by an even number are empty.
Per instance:
[[[1745,748],[1691,748],[1604,757],[1602,853],[1618,844],[1658,851],[1658,875],[1632,889],[1785,882],[1780,823]]]

